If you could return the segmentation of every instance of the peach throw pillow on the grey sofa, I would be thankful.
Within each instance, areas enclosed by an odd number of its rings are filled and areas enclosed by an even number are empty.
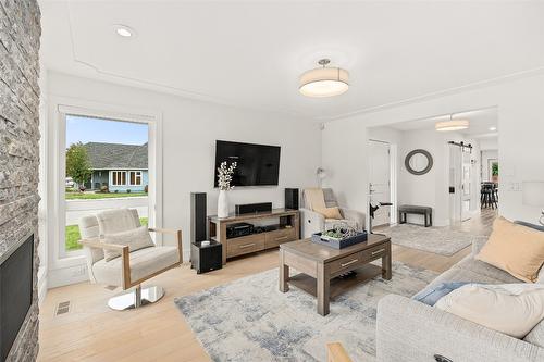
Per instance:
[[[497,217],[490,239],[475,259],[520,280],[534,283],[544,261],[544,233]]]

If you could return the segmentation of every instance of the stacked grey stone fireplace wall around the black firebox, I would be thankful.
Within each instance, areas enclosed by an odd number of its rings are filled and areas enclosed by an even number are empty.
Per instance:
[[[8,361],[38,353],[38,51],[36,0],[0,1],[0,255],[34,233],[34,299]]]

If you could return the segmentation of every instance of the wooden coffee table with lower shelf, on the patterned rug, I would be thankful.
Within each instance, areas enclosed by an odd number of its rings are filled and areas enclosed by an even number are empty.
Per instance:
[[[382,266],[370,264],[382,259]],[[289,267],[301,274],[289,276]],[[336,278],[357,270],[357,275]],[[310,239],[280,245],[280,291],[289,290],[289,284],[310,292],[318,299],[318,313],[329,314],[329,301],[342,291],[367,282],[376,275],[391,279],[391,239],[370,234],[366,242],[341,250],[311,242]]]

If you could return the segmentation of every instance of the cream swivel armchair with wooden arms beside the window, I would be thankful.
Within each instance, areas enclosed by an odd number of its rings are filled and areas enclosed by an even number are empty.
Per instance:
[[[182,230],[148,229],[173,235],[177,241],[175,247],[156,246],[131,251],[126,245],[101,240],[104,235],[128,232],[140,226],[135,209],[108,210],[79,220],[79,244],[84,247],[90,282],[128,290],[108,301],[108,305],[115,310],[138,308],[161,299],[164,295],[161,287],[141,288],[141,283],[183,263]],[[121,257],[107,261],[104,250],[118,251]]]

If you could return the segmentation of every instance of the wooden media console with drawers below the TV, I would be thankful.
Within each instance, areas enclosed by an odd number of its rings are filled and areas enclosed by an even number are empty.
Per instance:
[[[259,223],[264,220],[275,219],[275,229],[235,238],[226,237],[226,227],[237,223]],[[223,247],[223,265],[226,259],[256,252],[264,249],[276,248],[282,242],[298,240],[300,238],[300,216],[298,210],[274,209],[271,212],[255,214],[230,215],[219,219],[208,217],[210,238],[221,242]]]

